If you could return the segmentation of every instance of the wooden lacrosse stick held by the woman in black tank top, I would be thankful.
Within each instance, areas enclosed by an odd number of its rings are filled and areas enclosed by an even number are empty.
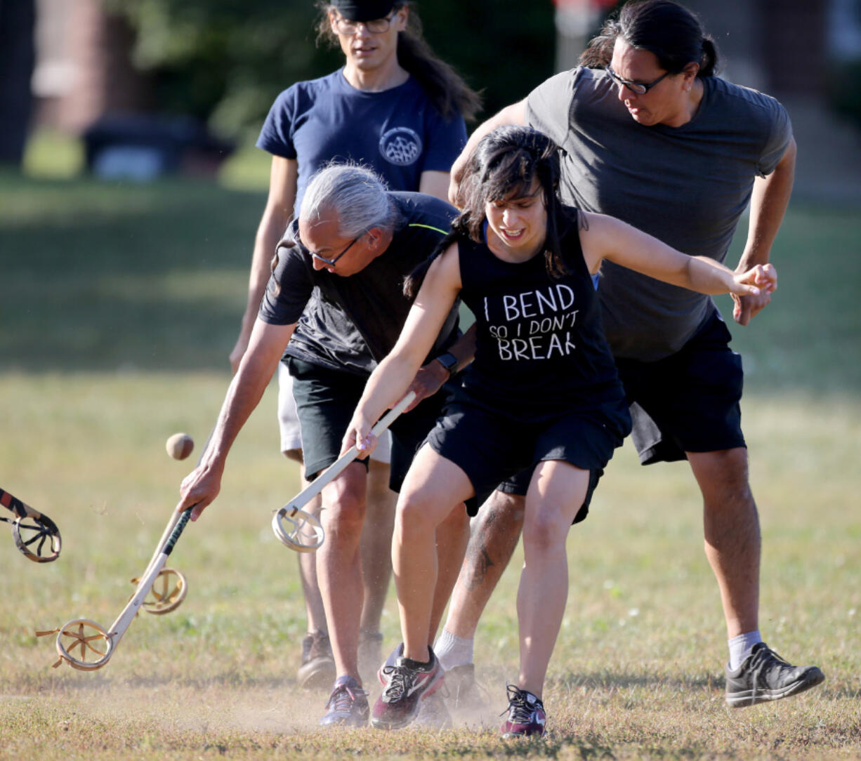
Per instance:
[[[380,418],[379,422],[371,429],[375,436],[387,430],[393,424],[401,412],[412,404],[412,400],[416,398],[416,393],[411,391],[406,396],[394,405],[391,410]],[[350,462],[356,459],[359,450],[356,446],[351,447],[343,455],[338,457],[328,468],[320,473],[313,483],[297,494],[281,510],[275,510],[275,515],[272,516],[272,530],[283,544],[288,548],[294,549],[296,552],[309,553],[318,549],[325,539],[323,526],[320,525],[317,517],[311,513],[302,510],[301,508],[308,504],[319,492],[322,492],[325,486],[328,486],[332,480],[341,473],[345,467],[350,465]],[[288,523],[292,528],[287,529],[284,523]]]

